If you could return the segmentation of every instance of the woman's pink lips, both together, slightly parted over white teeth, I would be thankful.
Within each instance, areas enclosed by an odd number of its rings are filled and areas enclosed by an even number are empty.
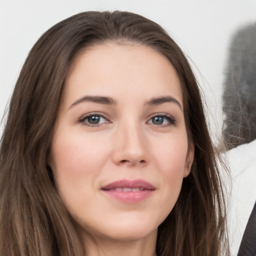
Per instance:
[[[103,186],[101,190],[116,200],[134,203],[148,197],[155,188],[143,179],[122,179]]]

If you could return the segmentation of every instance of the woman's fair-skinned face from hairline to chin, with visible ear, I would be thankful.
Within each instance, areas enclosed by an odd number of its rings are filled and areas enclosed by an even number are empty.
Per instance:
[[[189,174],[187,148],[180,82],[164,56],[114,42],[77,54],[49,164],[81,230],[94,238],[155,237]]]

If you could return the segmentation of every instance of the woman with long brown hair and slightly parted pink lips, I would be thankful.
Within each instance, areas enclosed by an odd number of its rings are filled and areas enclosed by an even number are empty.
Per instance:
[[[223,255],[200,93],[176,43],[129,12],[46,31],[1,140],[1,255]]]

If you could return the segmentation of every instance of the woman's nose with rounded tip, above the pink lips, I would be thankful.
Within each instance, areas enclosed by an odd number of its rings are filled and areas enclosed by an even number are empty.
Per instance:
[[[113,161],[117,165],[139,165],[148,163],[146,138],[139,125],[118,127],[114,137]]]

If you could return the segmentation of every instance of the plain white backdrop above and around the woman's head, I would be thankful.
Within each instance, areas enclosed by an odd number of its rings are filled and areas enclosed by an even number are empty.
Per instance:
[[[0,117],[29,49],[46,29],[81,11],[116,9],[159,23],[190,57],[216,139],[231,35],[256,21],[256,0],[0,0]]]

